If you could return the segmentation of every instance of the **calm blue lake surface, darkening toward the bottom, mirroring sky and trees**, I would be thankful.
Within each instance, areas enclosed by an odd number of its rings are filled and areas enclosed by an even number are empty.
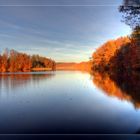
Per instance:
[[[125,87],[76,71],[1,74],[0,133],[139,133],[139,87]]]

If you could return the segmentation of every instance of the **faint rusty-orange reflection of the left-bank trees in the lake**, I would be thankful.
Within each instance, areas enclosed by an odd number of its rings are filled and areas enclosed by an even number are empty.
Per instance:
[[[38,83],[42,80],[50,79],[52,76],[54,76],[54,73],[0,74],[0,89],[15,89],[32,82]]]

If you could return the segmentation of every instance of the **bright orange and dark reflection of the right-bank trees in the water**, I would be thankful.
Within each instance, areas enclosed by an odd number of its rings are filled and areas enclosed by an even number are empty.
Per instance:
[[[140,108],[140,74],[136,72],[123,74],[94,72],[93,82],[108,96],[130,101],[135,108]]]

